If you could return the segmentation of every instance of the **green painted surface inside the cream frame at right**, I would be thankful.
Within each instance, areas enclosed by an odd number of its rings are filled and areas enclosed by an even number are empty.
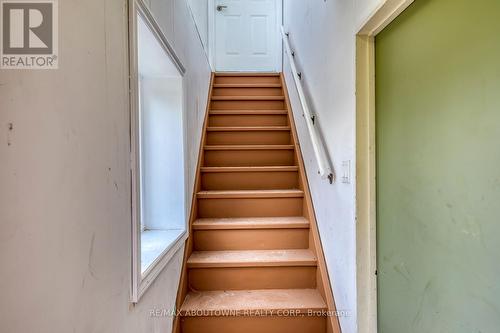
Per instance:
[[[500,332],[500,1],[376,39],[380,333]]]

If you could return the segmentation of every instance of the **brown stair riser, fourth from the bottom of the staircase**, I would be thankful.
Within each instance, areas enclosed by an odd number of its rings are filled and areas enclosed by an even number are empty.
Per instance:
[[[302,198],[200,199],[198,217],[301,216]]]

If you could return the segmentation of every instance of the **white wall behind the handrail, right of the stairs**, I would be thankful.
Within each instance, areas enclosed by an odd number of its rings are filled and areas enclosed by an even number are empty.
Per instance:
[[[383,1],[284,0],[284,25],[337,177],[342,161],[352,161],[355,174],[355,35]],[[341,325],[343,332],[353,333],[357,330],[355,182],[337,180],[330,185],[318,176],[287,61],[284,72],[337,308],[351,314],[340,319]]]

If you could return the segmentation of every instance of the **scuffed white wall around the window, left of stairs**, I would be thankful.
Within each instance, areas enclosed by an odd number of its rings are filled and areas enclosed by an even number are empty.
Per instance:
[[[151,0],[187,68],[192,189],[210,69],[186,0]],[[179,251],[137,306],[125,0],[59,1],[60,69],[0,70],[0,331],[169,332]],[[9,123],[12,130],[9,130]]]

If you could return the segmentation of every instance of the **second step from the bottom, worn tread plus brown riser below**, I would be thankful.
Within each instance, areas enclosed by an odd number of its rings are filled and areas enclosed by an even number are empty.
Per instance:
[[[197,291],[317,286],[317,258],[310,249],[201,250],[186,265],[190,286]]]

